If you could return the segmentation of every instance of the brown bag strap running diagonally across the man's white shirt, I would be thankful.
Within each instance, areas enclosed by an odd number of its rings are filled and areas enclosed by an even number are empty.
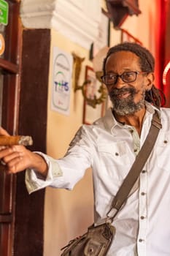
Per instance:
[[[121,206],[123,206],[123,203],[125,203],[125,200],[131,192],[132,187],[134,187],[134,184],[136,183],[139,174],[141,173],[142,168],[147,161],[147,158],[150,156],[150,153],[155,144],[155,140],[158,137],[158,133],[161,127],[162,125],[161,120],[158,116],[158,111],[155,111],[152,117],[152,124],[147,138],[146,140],[144,140],[144,144],[139,151],[139,154],[136,156],[131,170],[129,170],[128,175],[125,177],[123,184],[120,186],[120,189],[118,190],[117,194],[114,197],[114,200],[112,201],[112,208],[107,214],[107,217],[109,217],[110,219],[114,219]]]

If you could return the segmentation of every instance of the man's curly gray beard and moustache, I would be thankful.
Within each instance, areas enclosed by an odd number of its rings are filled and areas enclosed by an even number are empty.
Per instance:
[[[125,99],[118,99],[117,95],[123,92],[130,92],[131,95]],[[111,93],[109,93],[109,98],[112,102],[113,111],[117,113],[119,116],[132,115],[137,111],[141,110],[145,106],[144,97],[145,91],[142,93],[142,99],[139,102],[134,102],[134,95],[137,93],[136,89],[128,88],[128,89],[114,89]]]

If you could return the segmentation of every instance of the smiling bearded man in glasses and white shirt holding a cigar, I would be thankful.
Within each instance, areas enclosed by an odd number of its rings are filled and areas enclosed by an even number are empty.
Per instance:
[[[23,146],[1,148],[8,173],[26,169],[28,192],[53,186],[73,189],[93,168],[95,222],[107,216],[113,197],[131,169],[155,111],[163,128],[144,165],[139,185],[116,215],[116,235],[108,256],[170,255],[170,109],[153,85],[154,59],[141,45],[125,42],[109,49],[103,82],[113,108],[93,125],[83,125],[62,159],[32,153]],[[1,134],[7,134],[3,129]]]

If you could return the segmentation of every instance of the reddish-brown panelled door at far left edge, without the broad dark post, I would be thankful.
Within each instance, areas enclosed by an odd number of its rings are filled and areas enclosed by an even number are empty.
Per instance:
[[[8,0],[7,23],[0,23],[0,121],[11,134],[18,132],[21,26],[20,1]],[[5,7],[4,7],[5,8]],[[3,7],[1,8],[3,12]],[[4,47],[4,49],[3,49]],[[4,50],[4,53],[3,53]],[[12,255],[15,223],[15,176],[0,171],[0,255]]]

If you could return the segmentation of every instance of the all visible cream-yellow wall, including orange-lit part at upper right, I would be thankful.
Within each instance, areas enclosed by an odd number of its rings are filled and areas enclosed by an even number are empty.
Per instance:
[[[144,46],[155,53],[155,14],[156,1],[140,0],[139,7],[142,14],[131,16],[123,23],[123,29],[128,30],[134,37],[139,38]],[[102,1],[104,7],[104,0]],[[120,42],[120,31],[111,25],[111,42],[115,45]],[[82,63],[80,85],[85,78],[85,65],[92,66],[88,60],[89,51],[71,42],[66,37],[51,31],[51,53],[49,74],[49,95],[47,110],[47,153],[52,157],[62,157],[66,152],[74,133],[82,124],[83,98],[81,91],[71,93],[71,111],[69,116],[63,116],[50,108],[52,77],[53,77],[53,47],[57,46],[68,53],[76,53],[85,57]],[[45,195],[45,256],[60,255],[60,248],[74,238],[85,232],[88,225],[93,222],[93,187],[91,171],[85,174],[72,192],[63,189],[47,188]]]

